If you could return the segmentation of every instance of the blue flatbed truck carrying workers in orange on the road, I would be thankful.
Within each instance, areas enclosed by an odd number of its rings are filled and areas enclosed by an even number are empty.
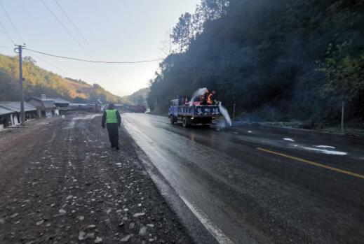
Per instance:
[[[209,127],[219,115],[219,106],[204,105],[200,102],[190,104],[186,96],[177,96],[177,99],[170,100],[168,108],[170,124],[182,122],[183,127],[190,127],[193,124]]]

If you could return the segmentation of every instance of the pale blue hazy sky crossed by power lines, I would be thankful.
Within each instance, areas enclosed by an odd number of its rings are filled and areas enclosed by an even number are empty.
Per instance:
[[[0,6],[0,53],[15,55],[13,45],[22,44],[41,52],[66,57],[102,61],[139,61],[166,57],[161,51],[166,33],[182,13],[194,13],[199,0],[0,0],[13,25]],[[73,37],[72,37],[73,36]],[[91,49],[92,48],[92,49]],[[119,96],[147,87],[159,69],[159,62],[142,64],[91,64],[57,59],[27,50],[37,65],[64,77],[85,80]]]

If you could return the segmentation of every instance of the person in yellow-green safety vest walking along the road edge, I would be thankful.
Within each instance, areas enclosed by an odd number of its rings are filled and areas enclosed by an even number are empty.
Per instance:
[[[104,129],[105,123],[110,143],[112,143],[112,148],[119,150],[119,127],[121,124],[121,116],[119,111],[116,110],[114,103],[110,103],[109,108],[107,108],[102,115],[102,128]]]

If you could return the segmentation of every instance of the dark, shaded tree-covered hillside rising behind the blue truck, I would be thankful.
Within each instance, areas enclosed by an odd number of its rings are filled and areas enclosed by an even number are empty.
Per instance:
[[[148,103],[166,111],[198,87],[243,120],[363,124],[363,0],[202,0],[173,29]]]

